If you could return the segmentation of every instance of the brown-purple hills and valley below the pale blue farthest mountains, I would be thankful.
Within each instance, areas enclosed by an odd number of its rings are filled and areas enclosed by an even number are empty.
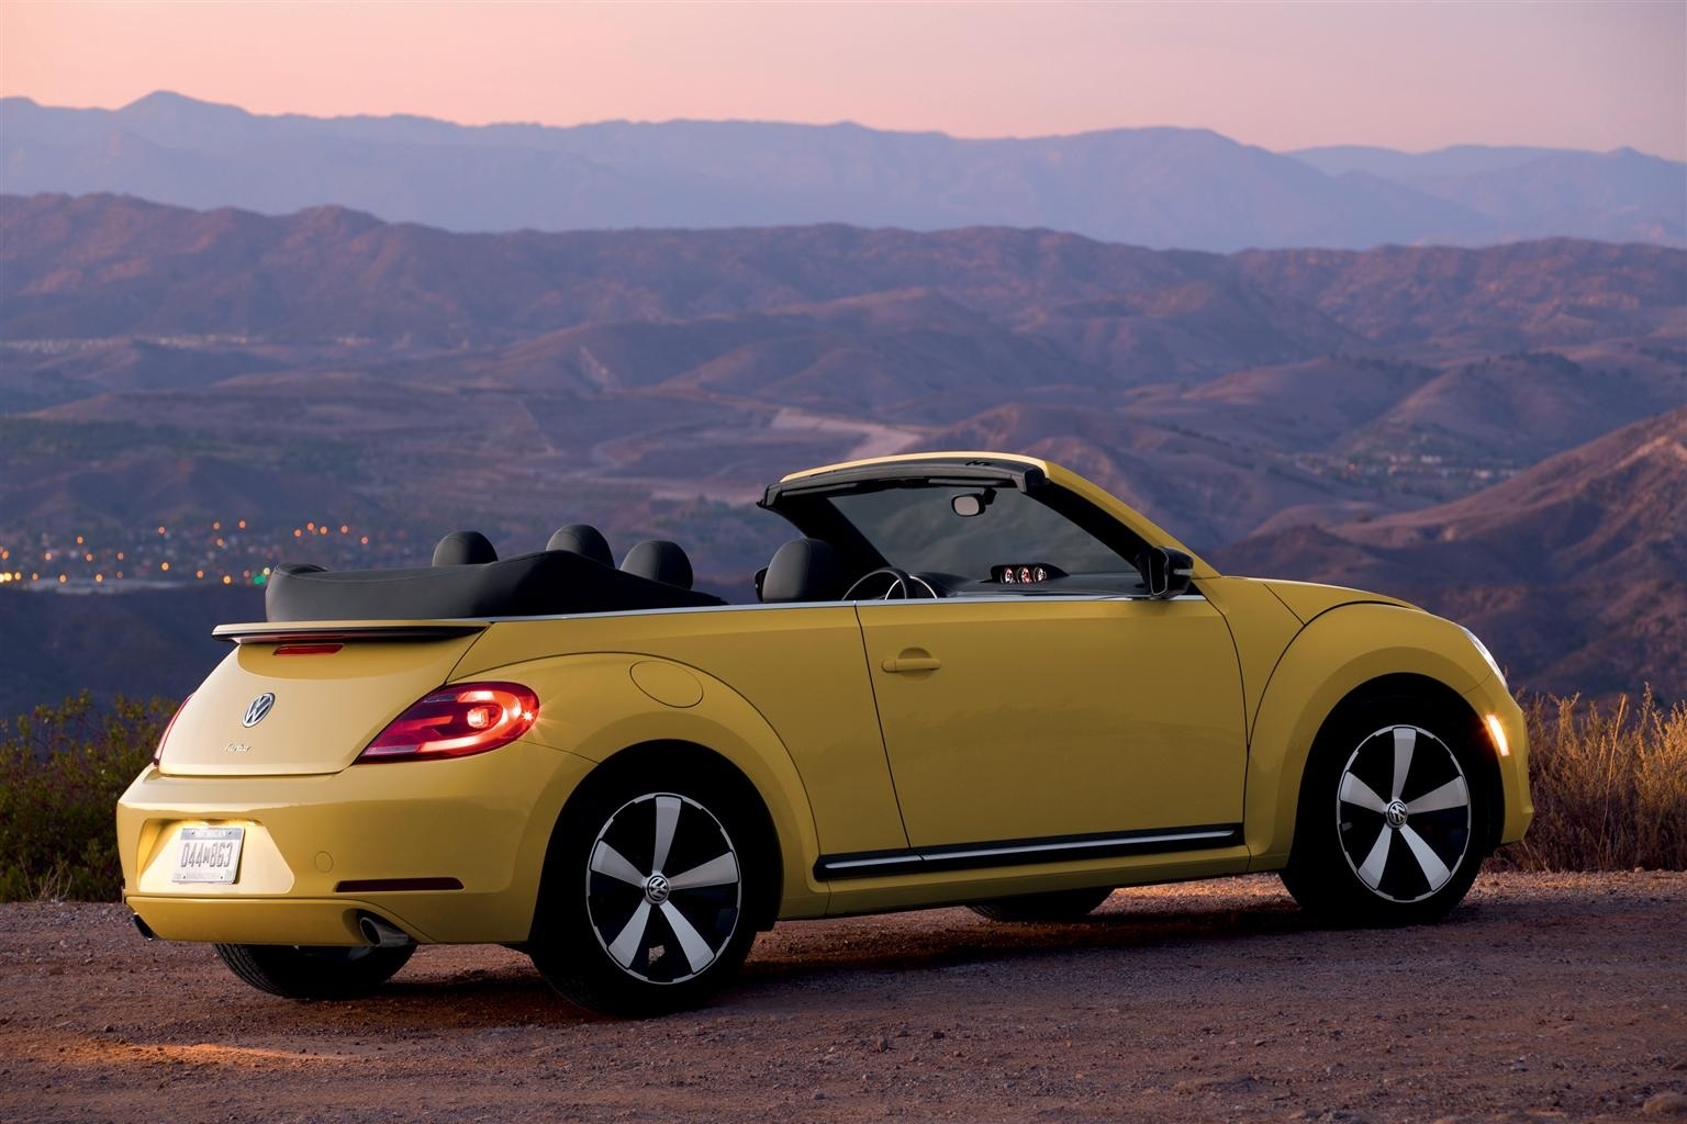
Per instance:
[[[214,581],[283,558],[420,563],[459,527],[536,549],[584,519],[621,551],[673,538],[747,597],[790,536],[749,507],[779,474],[1011,448],[1223,568],[1468,620],[1522,684],[1687,698],[1684,406],[1687,251],[1662,246],[450,234],[336,207],[0,197],[0,548],[66,588],[118,551],[130,578],[169,558],[169,578]],[[250,526],[226,534],[234,517]],[[310,521],[334,534],[304,538]],[[189,603],[165,593],[0,590],[0,632],[35,635],[59,602],[145,630]],[[0,711],[101,659],[56,644],[0,674]],[[110,682],[191,686],[208,649],[182,644]]]

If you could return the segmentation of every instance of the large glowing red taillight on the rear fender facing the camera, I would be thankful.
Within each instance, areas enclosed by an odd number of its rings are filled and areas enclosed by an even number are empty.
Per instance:
[[[412,704],[375,735],[359,762],[469,757],[509,745],[538,720],[538,696],[520,682],[462,682]]]

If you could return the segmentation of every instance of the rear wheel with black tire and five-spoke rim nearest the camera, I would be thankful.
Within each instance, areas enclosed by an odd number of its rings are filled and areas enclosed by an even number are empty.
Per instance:
[[[528,947],[540,974],[601,1014],[707,1003],[737,976],[769,910],[778,859],[759,811],[680,763],[590,785],[552,841]]]

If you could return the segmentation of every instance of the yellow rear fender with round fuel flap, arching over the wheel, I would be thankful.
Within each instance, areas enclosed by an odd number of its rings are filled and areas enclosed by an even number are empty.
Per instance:
[[[633,654],[562,656],[489,667],[474,677],[533,688],[543,706],[528,740],[590,762],[651,741],[688,741],[732,762],[756,787],[779,836],[779,917],[825,913],[828,891],[813,880],[820,843],[808,792],[779,735],[737,691],[695,667]],[[528,826],[526,853],[536,848],[540,861],[570,794],[562,794],[545,822]]]

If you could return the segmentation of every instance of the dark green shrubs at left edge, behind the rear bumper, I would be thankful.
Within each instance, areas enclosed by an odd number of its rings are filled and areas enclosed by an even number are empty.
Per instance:
[[[0,902],[116,900],[116,799],[152,758],[175,704],[83,691],[0,720]]]

